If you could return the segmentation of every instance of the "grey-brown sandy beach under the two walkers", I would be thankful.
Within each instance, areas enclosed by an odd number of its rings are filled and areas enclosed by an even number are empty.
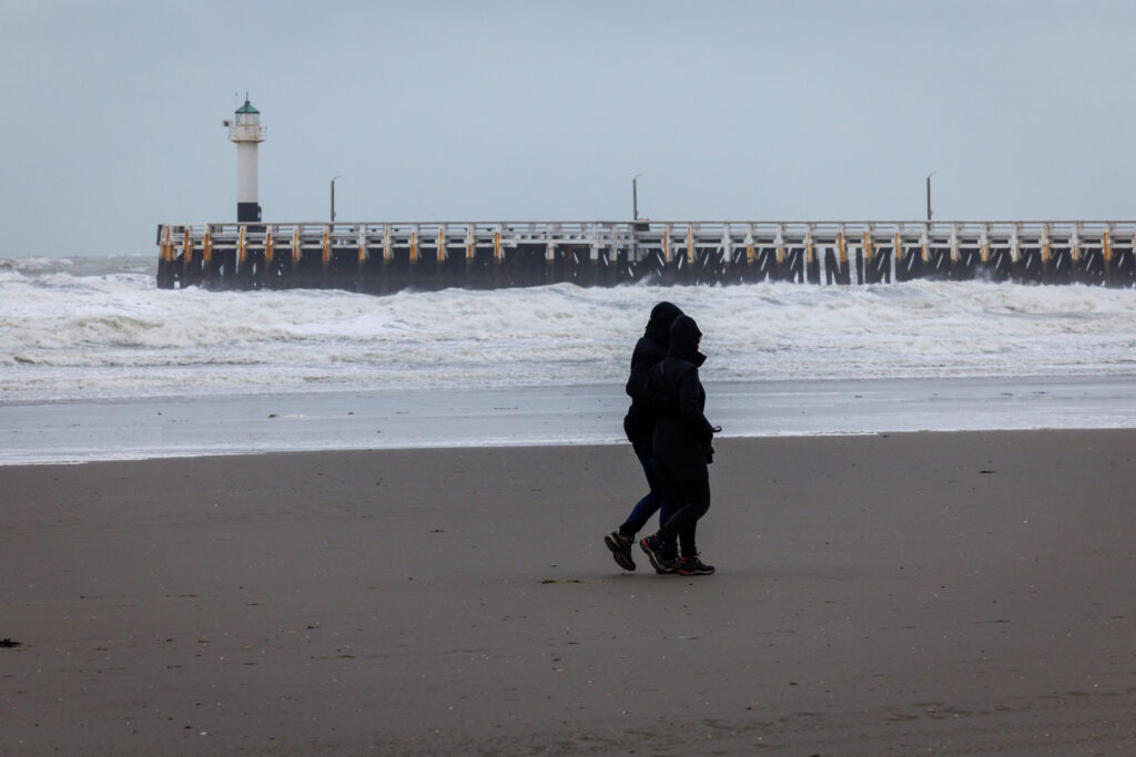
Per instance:
[[[12,755],[1136,752],[1136,430],[0,468]]]

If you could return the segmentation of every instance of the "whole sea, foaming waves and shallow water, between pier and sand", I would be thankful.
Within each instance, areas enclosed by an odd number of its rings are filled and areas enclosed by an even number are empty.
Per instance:
[[[988,281],[160,291],[0,259],[0,463],[616,441],[669,300],[726,434],[1136,426],[1136,292]],[[717,415],[715,414],[717,413]]]

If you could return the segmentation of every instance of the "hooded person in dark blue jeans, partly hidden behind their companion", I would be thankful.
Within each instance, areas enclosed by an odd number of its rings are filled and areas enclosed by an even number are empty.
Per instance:
[[[651,369],[667,356],[670,343],[670,325],[683,314],[676,305],[660,302],[651,309],[651,318],[643,336],[635,343],[632,353],[632,372],[627,379],[627,394],[632,405],[624,418],[624,431],[643,466],[643,474],[650,490],[635,504],[630,515],[617,530],[603,537],[603,544],[611,550],[611,557],[624,570],[635,570],[632,545],[635,535],[655,512],[660,523],[671,515],[671,499],[667,488],[659,480],[651,447],[654,438],[654,419],[659,414],[661,397],[651,389]]]

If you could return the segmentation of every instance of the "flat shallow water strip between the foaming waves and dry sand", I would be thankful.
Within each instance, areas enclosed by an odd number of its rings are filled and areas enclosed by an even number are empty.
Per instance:
[[[1136,428],[1136,376],[708,382],[722,438]],[[0,405],[0,466],[303,451],[617,444],[619,386]]]

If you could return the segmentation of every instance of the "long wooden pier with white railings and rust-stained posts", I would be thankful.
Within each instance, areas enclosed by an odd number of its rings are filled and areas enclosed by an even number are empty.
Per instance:
[[[373,294],[911,279],[1136,286],[1136,221],[227,222],[158,227],[158,286]]]

